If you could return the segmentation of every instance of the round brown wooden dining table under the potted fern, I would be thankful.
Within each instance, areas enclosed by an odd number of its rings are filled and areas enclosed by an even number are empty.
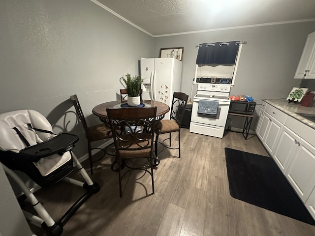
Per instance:
[[[159,101],[152,101],[152,100],[143,100],[141,102],[144,107],[157,107],[157,119],[161,120],[164,118],[165,114],[169,112],[169,106],[163,102]],[[97,116],[102,122],[108,124],[108,117],[107,117],[107,108],[119,109],[121,107],[128,107],[126,101],[111,101],[111,102],[104,102],[97,106],[95,106],[92,110],[92,113]],[[132,107],[129,107],[132,109]]]

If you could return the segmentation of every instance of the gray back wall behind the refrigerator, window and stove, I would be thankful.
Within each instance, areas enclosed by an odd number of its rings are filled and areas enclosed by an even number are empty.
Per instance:
[[[301,80],[293,79],[307,35],[315,31],[315,22],[226,29],[155,38],[155,56],[160,48],[184,47],[182,86],[190,94],[195,61],[200,43],[247,41],[243,45],[235,87],[231,95],[251,95],[257,102],[255,116],[262,99],[286,98]],[[309,81],[314,85],[314,81]],[[315,86],[313,86],[315,87]],[[243,118],[230,117],[232,126],[242,128]],[[254,117],[251,129],[255,127]]]

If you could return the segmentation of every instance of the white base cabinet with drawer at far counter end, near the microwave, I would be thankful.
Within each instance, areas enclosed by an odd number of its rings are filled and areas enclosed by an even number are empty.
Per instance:
[[[284,126],[287,115],[277,108],[266,104],[258,127],[257,136],[269,152],[274,154],[278,137]]]

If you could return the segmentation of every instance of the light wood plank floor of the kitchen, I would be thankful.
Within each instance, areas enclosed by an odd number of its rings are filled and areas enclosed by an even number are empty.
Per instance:
[[[161,138],[165,135],[161,135]],[[177,139],[174,136],[174,141]],[[95,163],[92,176],[101,189],[72,216],[64,236],[314,236],[315,226],[234,199],[229,194],[224,148],[268,155],[256,136],[245,140],[227,132],[223,139],[182,129],[182,157],[164,148],[154,171],[155,194],[148,174],[123,179],[111,157]],[[177,145],[176,142],[173,145]],[[161,147],[160,147],[161,148]],[[88,163],[83,163],[88,166]],[[89,168],[86,168],[89,171]],[[76,175],[76,174],[75,174]],[[55,220],[73,203],[79,187],[60,183],[36,193]],[[38,236],[45,235],[32,227]]]

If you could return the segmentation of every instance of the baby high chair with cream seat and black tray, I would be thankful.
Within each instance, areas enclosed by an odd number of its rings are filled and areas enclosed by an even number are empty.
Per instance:
[[[56,135],[52,130],[49,121],[34,110],[0,114],[0,162],[39,215],[24,212],[25,217],[42,227],[47,235],[60,236],[65,223],[92,194],[98,192],[99,185],[91,180],[72,154],[71,149],[79,138],[68,133]],[[85,182],[67,177],[74,170],[73,162]],[[66,180],[87,191],[55,222],[15,171],[25,173],[42,188]]]

